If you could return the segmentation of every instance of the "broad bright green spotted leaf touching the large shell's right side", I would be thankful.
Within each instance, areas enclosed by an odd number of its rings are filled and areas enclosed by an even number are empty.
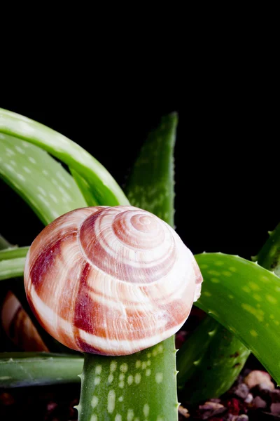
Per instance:
[[[195,303],[231,330],[280,383],[280,279],[258,264],[222,253],[196,255],[204,277]]]

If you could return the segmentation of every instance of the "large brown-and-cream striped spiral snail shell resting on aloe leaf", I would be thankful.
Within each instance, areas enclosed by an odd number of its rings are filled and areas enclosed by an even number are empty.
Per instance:
[[[133,206],[71,210],[38,234],[25,263],[32,311],[80,352],[127,355],[174,335],[202,275],[172,227]]]

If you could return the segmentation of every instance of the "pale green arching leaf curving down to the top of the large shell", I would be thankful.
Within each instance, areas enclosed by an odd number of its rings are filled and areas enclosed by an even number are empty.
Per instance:
[[[34,143],[73,168],[86,180],[99,204],[107,206],[129,204],[122,189],[106,168],[85,149],[64,135],[5,109],[0,109],[1,132]]]

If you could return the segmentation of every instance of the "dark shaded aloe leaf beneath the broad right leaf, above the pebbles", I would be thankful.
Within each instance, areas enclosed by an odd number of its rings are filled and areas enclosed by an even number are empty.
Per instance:
[[[207,316],[177,354],[183,401],[196,403],[221,396],[232,386],[249,354],[235,335]]]

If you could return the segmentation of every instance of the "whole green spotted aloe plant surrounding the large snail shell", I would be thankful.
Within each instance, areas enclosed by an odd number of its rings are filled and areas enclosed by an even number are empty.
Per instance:
[[[75,208],[128,203],[174,225],[176,123],[176,114],[171,114],[149,135],[127,182],[125,196],[106,169],[71,140],[40,123],[1,110],[0,176],[45,225]],[[64,162],[69,172],[51,155]],[[178,355],[179,389],[189,392],[190,401],[225,392],[250,351],[280,382],[280,280],[267,270],[279,267],[278,243],[276,229],[258,256],[259,264],[222,253],[196,256],[204,276],[197,305],[209,317]],[[22,276],[27,249],[0,251],[3,282]],[[0,354],[0,385],[43,385],[81,378],[80,421],[177,419],[173,337],[130,356],[85,354],[83,373],[82,363],[83,356]],[[207,377],[205,367],[209,364],[215,368],[214,381]],[[18,371],[18,366],[22,370]],[[188,385],[197,373],[204,376],[203,387],[198,384],[196,390],[190,391]]]

